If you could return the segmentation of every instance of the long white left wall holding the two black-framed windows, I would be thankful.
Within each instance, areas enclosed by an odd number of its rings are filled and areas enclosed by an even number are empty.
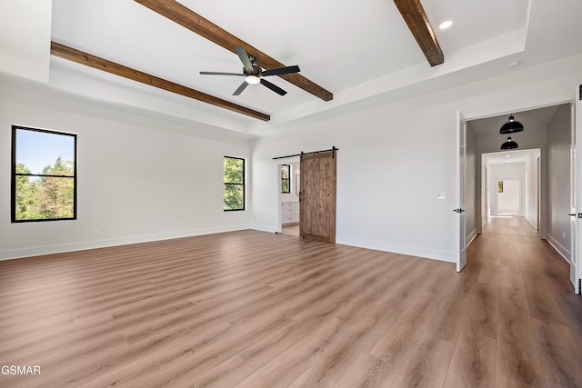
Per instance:
[[[12,124],[78,134],[77,220],[10,223]],[[186,132],[0,85],[0,259],[250,227],[250,210],[223,211],[223,156],[250,163],[250,142]]]

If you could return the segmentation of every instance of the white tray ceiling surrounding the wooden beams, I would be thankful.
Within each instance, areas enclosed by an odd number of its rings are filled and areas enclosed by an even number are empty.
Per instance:
[[[287,95],[249,85],[242,95],[233,96],[241,78],[198,72],[238,73],[242,65],[235,54],[131,0],[53,0],[52,39],[270,114],[271,121],[259,122],[54,56],[51,84],[122,109],[262,135],[272,124],[338,107],[345,112],[350,106],[365,109],[367,99],[428,85],[430,79],[461,70],[465,79],[467,70],[469,79],[478,79],[512,71],[507,65],[516,60],[524,67],[582,52],[576,20],[582,2],[577,0],[422,0],[445,54],[445,64],[434,68],[390,0],[180,3],[283,64],[299,65],[301,75],[332,92],[334,100],[326,103],[276,76],[269,81]],[[447,19],[453,26],[438,30]],[[448,79],[454,83],[454,77]]]

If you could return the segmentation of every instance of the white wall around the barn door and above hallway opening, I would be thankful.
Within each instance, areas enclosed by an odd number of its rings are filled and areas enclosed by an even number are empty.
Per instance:
[[[556,104],[573,100],[581,80],[577,55],[366,112],[275,126],[278,133],[255,144],[254,226],[277,227],[272,158],[335,145],[337,243],[453,261],[457,109],[471,119]]]

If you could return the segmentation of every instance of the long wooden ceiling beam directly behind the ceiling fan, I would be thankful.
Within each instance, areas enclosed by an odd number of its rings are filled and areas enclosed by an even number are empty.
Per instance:
[[[247,44],[235,35],[230,34],[218,25],[215,25],[204,17],[196,14],[190,8],[187,8],[174,0],[135,0],[135,2],[146,6],[159,15],[167,17],[178,25],[182,25],[198,35],[204,36],[206,39],[216,43],[216,45],[220,45],[233,53],[235,53],[236,45],[245,48],[246,53],[255,56],[256,63],[266,69],[285,66],[276,59],[261,52],[256,47]],[[303,75],[294,73],[279,76],[306,92],[316,95],[316,97],[319,97],[324,101],[330,101],[334,98],[334,95],[332,95],[331,92],[328,92],[313,81],[308,80]]]

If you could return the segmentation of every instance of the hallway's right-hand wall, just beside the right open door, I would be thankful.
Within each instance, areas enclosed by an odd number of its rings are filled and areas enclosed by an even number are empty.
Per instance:
[[[567,260],[570,259],[570,106],[560,105],[549,122],[547,240]]]

